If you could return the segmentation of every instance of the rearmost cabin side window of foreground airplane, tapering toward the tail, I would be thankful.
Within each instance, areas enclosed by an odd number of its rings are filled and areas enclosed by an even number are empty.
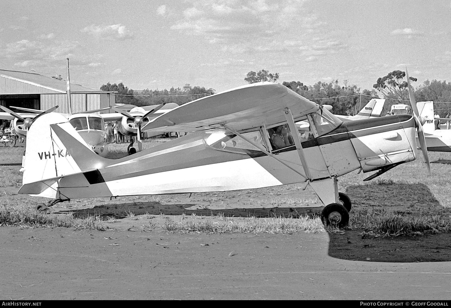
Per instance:
[[[266,149],[266,145],[263,141],[262,134],[260,131],[251,131],[247,133],[242,134],[246,139],[251,140],[253,143],[257,144],[258,146],[261,146],[263,149]],[[243,153],[243,154],[257,154],[262,153],[260,149],[257,147],[251,145],[248,141],[244,140],[243,138],[231,134],[227,135],[221,140],[216,141],[212,144],[213,148],[216,149],[223,149],[230,152],[237,152],[237,153]],[[267,150],[267,149],[266,149]]]

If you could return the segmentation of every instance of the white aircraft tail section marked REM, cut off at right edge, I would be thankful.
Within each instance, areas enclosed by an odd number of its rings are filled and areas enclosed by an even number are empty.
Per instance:
[[[435,129],[434,124],[434,121],[451,121],[451,119],[434,118],[433,101],[418,102],[417,107],[420,116],[424,118],[423,131],[428,151],[451,152],[451,130]]]

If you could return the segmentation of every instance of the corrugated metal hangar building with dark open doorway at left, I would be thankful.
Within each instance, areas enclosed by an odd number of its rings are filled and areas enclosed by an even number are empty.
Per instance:
[[[70,84],[72,113],[115,105],[113,92]],[[66,82],[37,72],[0,69],[0,105],[47,110],[56,105],[56,112],[69,113]]]

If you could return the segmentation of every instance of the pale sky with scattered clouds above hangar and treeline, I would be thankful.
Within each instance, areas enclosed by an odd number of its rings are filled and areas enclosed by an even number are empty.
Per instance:
[[[278,82],[338,80],[372,89],[409,70],[451,81],[449,0],[0,0],[0,69],[99,89],[246,84],[250,71]]]

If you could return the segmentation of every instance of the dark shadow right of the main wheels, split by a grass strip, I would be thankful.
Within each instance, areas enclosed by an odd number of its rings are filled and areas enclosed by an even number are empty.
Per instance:
[[[403,217],[420,214],[449,215],[426,185],[374,182],[348,186],[346,194],[355,209],[393,211]],[[352,216],[352,211],[350,213]],[[372,262],[451,261],[451,234],[368,238],[363,230],[329,232],[328,254],[334,258]]]

